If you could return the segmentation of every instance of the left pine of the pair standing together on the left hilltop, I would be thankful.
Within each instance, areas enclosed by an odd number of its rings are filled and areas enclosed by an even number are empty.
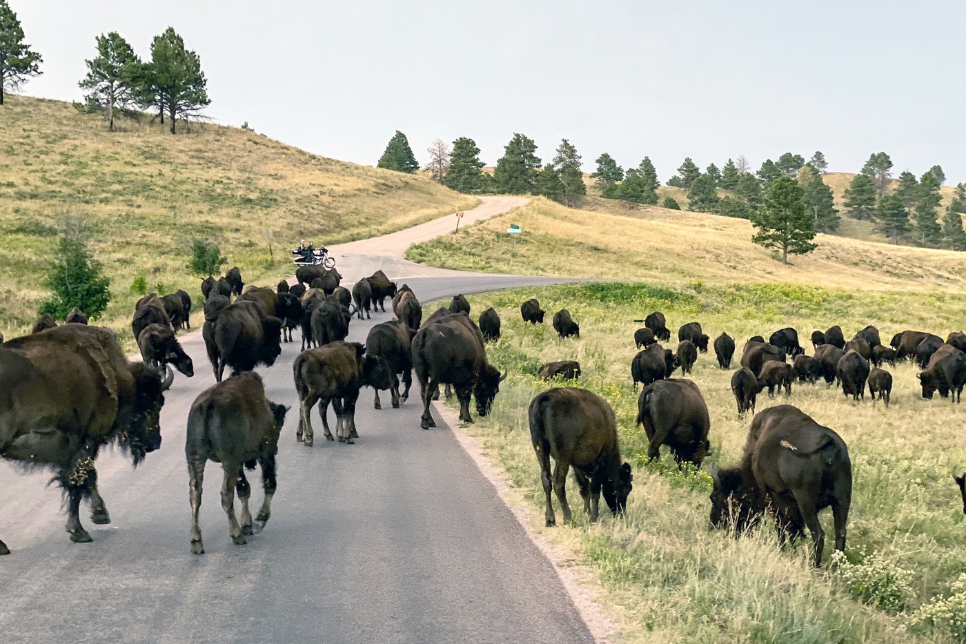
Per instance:
[[[115,110],[128,111],[137,103],[135,94],[143,80],[143,65],[128,41],[115,31],[98,36],[97,45],[98,57],[84,61],[87,75],[77,84],[89,90],[84,95],[89,108],[105,110],[107,130],[114,132]]]

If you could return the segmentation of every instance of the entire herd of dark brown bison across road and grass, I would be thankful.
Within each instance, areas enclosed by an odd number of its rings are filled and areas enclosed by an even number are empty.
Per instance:
[[[272,366],[283,342],[301,331],[301,350],[293,364],[299,401],[297,439],[306,446],[314,441],[310,412],[318,405],[327,440],[354,443],[355,405],[364,386],[375,390],[380,409],[381,391],[389,391],[398,408],[410,394],[412,371],[419,381],[422,402],[420,426],[436,426],[431,401],[445,385],[460,403],[460,420],[471,423],[470,401],[477,414],[486,416],[506,373],[487,361],[486,343],[500,337],[500,319],[494,308],[469,316],[462,295],[449,307],[423,319],[423,309],[412,289],[397,286],[382,271],[362,278],[352,289],[341,285],[335,269],[302,267],[297,281],[280,281],[274,288],[245,285],[237,268],[224,277],[202,282],[204,337],[216,383],[197,397],[187,419],[185,454],[188,464],[192,511],[191,551],[204,552],[198,513],[207,461],[221,463],[224,478],[222,508],[228,516],[235,543],[251,535],[248,509],[251,486],[246,469],[259,465],[265,500],[255,517],[261,526],[269,520],[275,492],[275,454],[279,433],[289,408],[265,395],[256,366]],[[347,342],[354,317],[370,318],[385,311],[391,300],[395,319],[376,324],[365,343]],[[190,329],[191,298],[185,291],[164,296],[150,294],[139,300],[131,332],[141,351],[140,362],[128,361],[113,332],[89,326],[82,311],[74,309],[58,326],[49,315],[31,335],[0,344],[0,455],[56,472],[68,505],[67,530],[74,542],[89,542],[80,523],[82,499],[91,504],[92,520],[108,523],[110,516],[98,492],[95,460],[99,450],[116,445],[134,465],[160,447],[160,410],[174,371],[192,376],[191,358],[176,333]],[[543,324],[545,311],[536,300],[521,307],[523,319]],[[696,322],[678,330],[676,350],[660,342],[670,339],[665,316],[653,312],[634,334],[639,353],[631,363],[638,398],[638,424],[649,440],[648,457],[656,458],[667,445],[679,465],[700,466],[708,454],[709,415],[694,382],[672,378],[680,368],[688,375],[698,353],[713,346],[718,364],[731,366],[736,345],[727,334],[711,342]],[[554,330],[563,339],[580,337],[580,326],[567,309],[553,317]],[[866,327],[846,341],[838,326],[811,335],[813,355],[806,355],[795,329],[781,329],[766,341],[750,338],[741,353],[740,368],[731,377],[739,415],[754,413],[755,399],[790,395],[793,383],[831,386],[838,382],[844,395],[865,397],[889,405],[893,377],[883,366],[915,360],[923,397],[936,392],[956,402],[966,384],[966,335],[953,333],[946,340],[931,334],[905,331],[890,346],[879,332]],[[3,342],[0,337],[0,342]],[[790,362],[789,362],[790,361]],[[230,377],[225,378],[225,368]],[[581,366],[558,361],[541,366],[546,380],[578,380]],[[401,391],[402,390],[402,391]],[[335,436],[327,409],[335,412]],[[617,426],[610,404],[598,395],[574,387],[554,387],[530,402],[530,435],[546,493],[546,522],[554,525],[552,492],[556,493],[565,522],[572,518],[565,483],[571,468],[579,484],[584,511],[597,519],[599,500],[615,515],[621,514],[633,487],[630,464],[623,462]],[[554,460],[552,467],[551,459]],[[966,476],[966,475],[964,475]],[[775,518],[782,540],[804,535],[808,528],[814,544],[814,563],[820,565],[824,532],[818,512],[832,508],[835,546],[845,547],[845,532],[852,494],[852,467],[848,449],[838,434],[817,424],[791,405],[766,409],[753,417],[745,451],[737,467],[713,471],[711,523],[740,532],[765,512]],[[956,477],[966,512],[966,483]],[[241,516],[235,513],[235,494]],[[0,542],[0,553],[9,549]]]

